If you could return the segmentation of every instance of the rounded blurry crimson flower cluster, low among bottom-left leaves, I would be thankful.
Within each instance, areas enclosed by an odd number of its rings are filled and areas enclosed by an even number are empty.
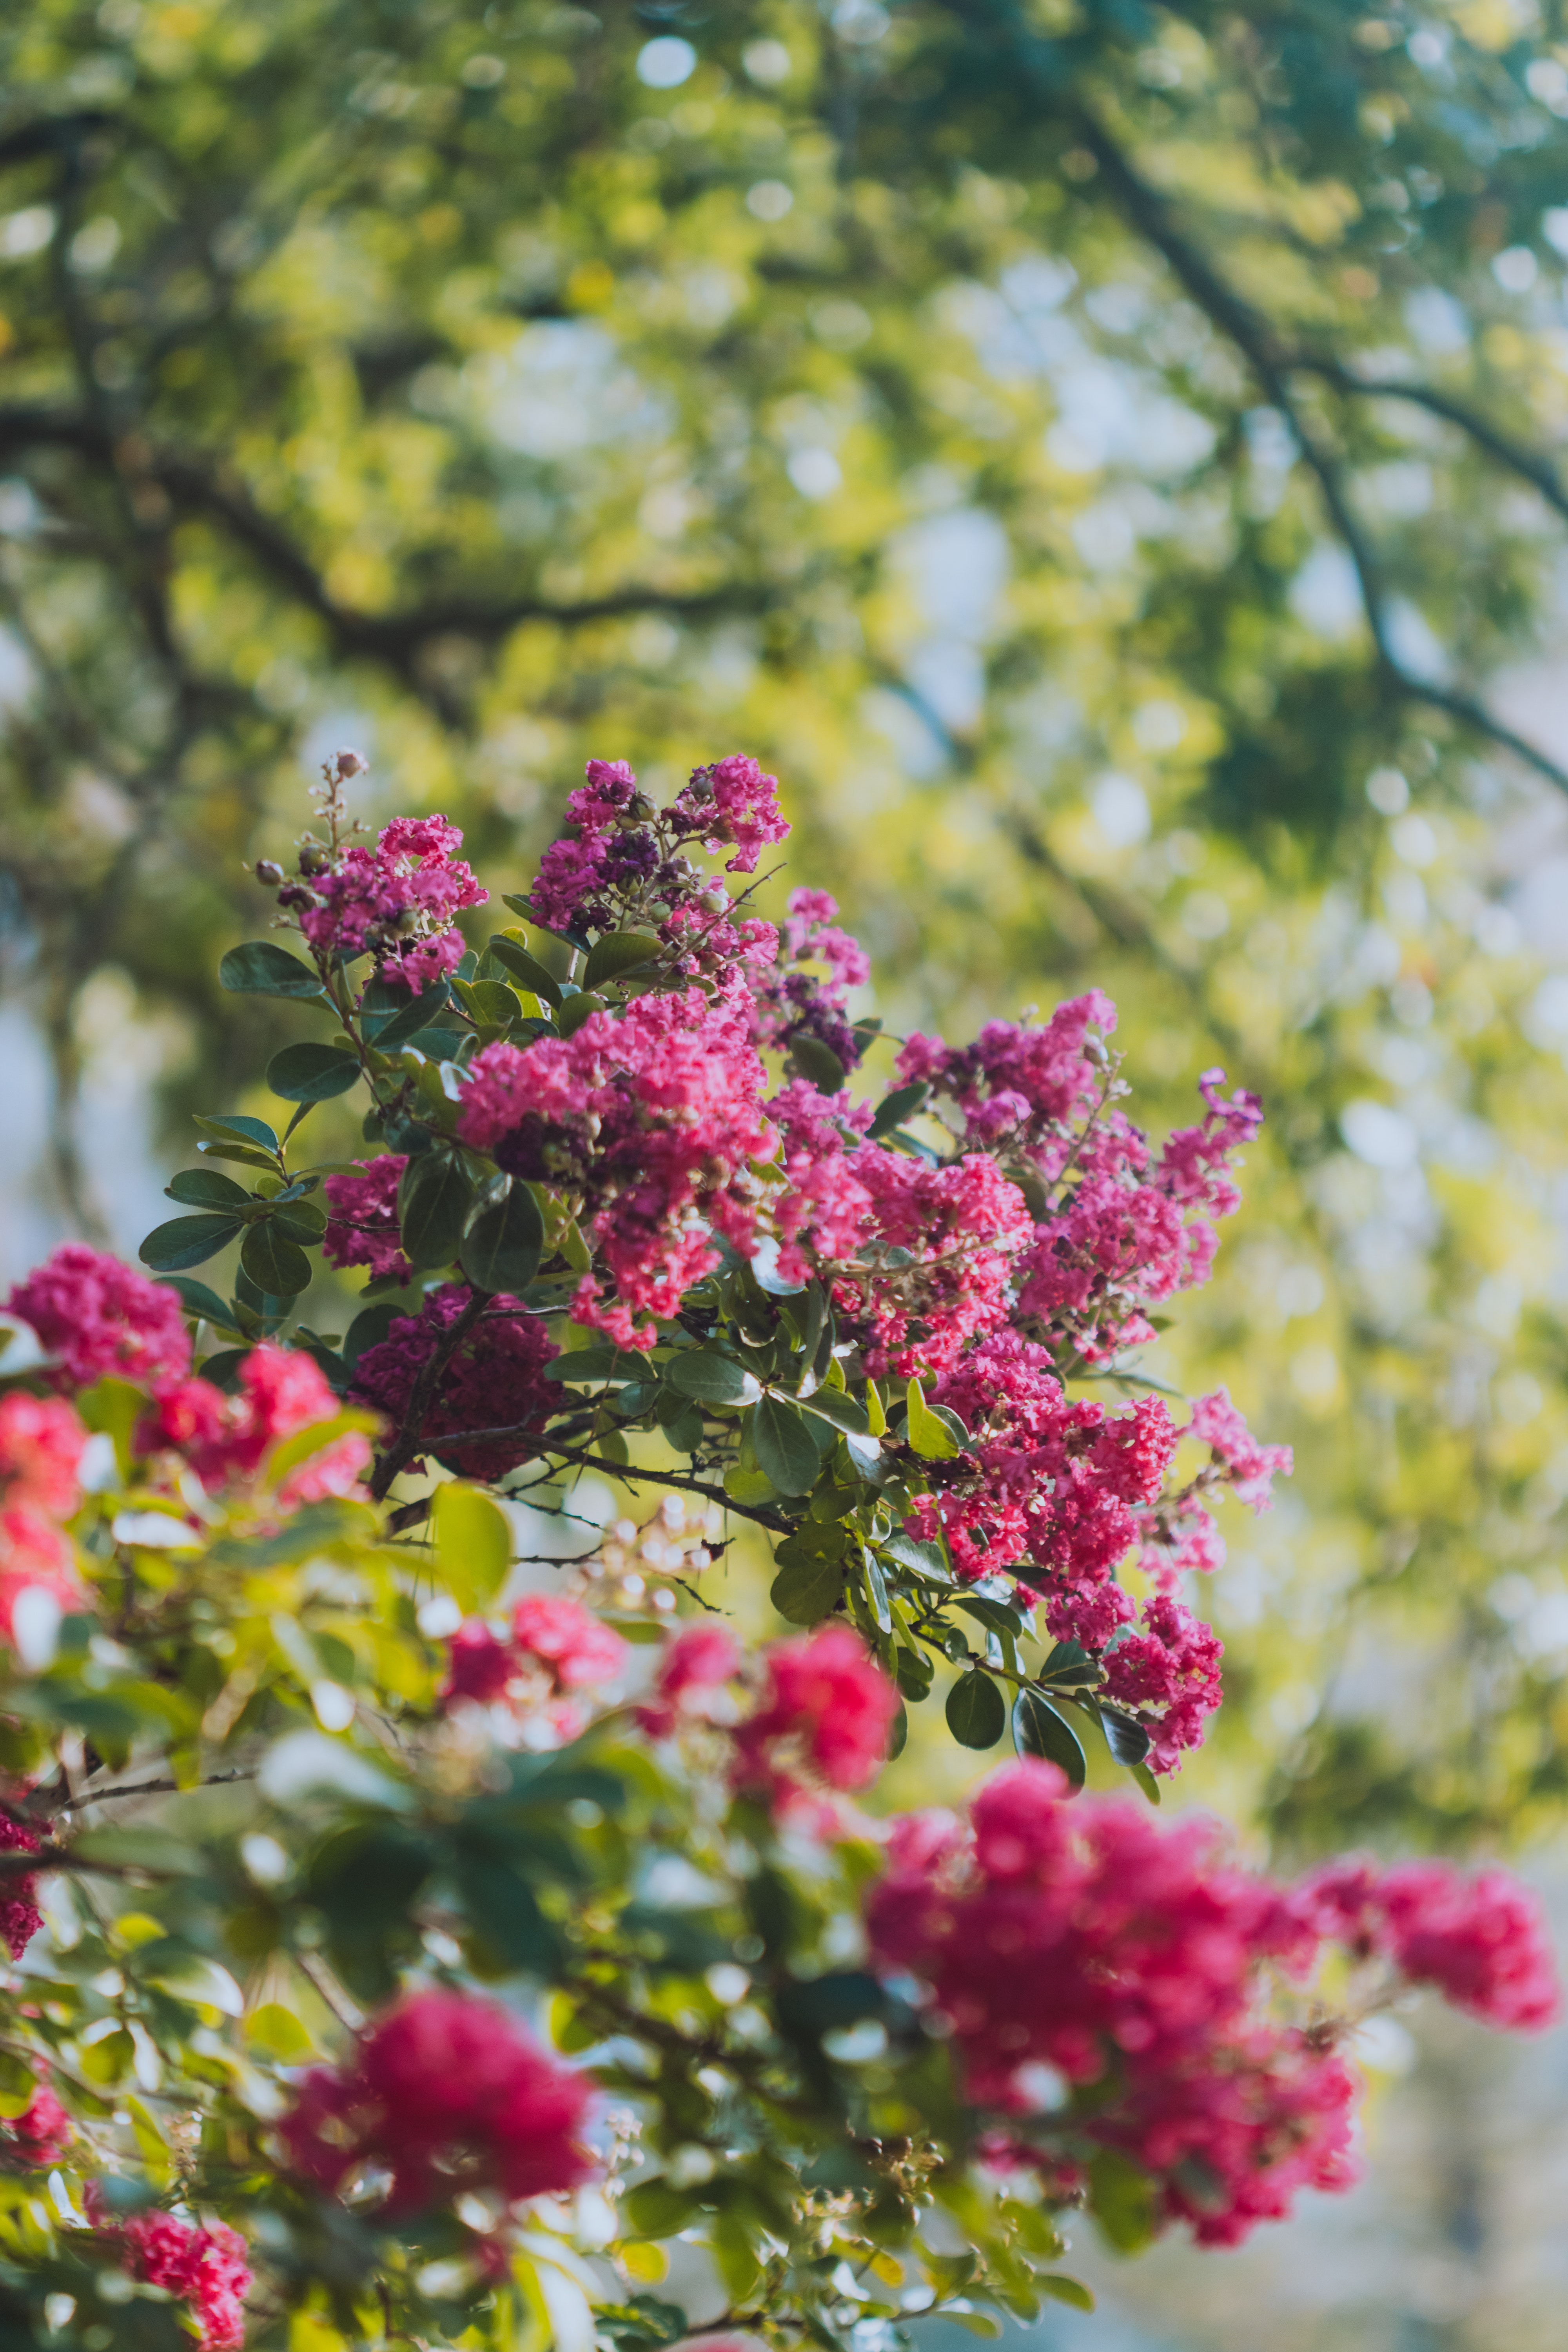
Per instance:
[[[463,2190],[550,2197],[592,2171],[581,2145],[590,2084],[557,2065],[505,2009],[416,1992],[362,2037],[346,2067],[315,2067],[282,2122],[306,2180],[339,2192],[364,2166],[390,2173],[388,2218]]]

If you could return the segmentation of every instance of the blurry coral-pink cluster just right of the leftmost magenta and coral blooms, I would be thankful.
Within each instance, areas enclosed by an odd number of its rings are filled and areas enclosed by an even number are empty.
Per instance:
[[[195,1374],[183,1381],[160,1381],[136,1442],[143,1451],[174,1446],[212,1494],[230,1479],[256,1477],[282,1437],[331,1421],[336,1411],[339,1399],[313,1357],[263,1341],[240,1364],[235,1395],[223,1395]],[[296,1508],[353,1494],[369,1468],[369,1437],[348,1430],[292,1470],[277,1489],[277,1501]]]

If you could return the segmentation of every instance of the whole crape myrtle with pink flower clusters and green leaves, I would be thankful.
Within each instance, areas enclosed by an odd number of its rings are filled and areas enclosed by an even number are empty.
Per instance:
[[[1260,1105],[1211,1070],[1152,1148],[1098,993],[867,1091],[832,898],[752,913],[750,757],[590,762],[482,953],[458,830],[362,835],[360,767],[221,967],[315,1016],[277,1124],[202,1112],[158,1279],[68,1242],[7,1301],[5,2340],[997,2333],[1091,2300],[1079,2206],[1227,2246],[1345,2185],[1387,2002],[1544,2025],[1502,1872],[1286,1886],[1150,1809],[1213,1505],[1288,1470],[1138,1371]],[[522,1592],[496,1489],[581,1536]],[[736,1529],[797,1635],[736,1637]],[[877,1818],[938,1677],[1016,1759]]]

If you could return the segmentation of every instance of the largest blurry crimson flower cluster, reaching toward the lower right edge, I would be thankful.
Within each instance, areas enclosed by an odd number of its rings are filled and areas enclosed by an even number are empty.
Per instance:
[[[1493,2023],[1556,2011],[1540,1907],[1514,1882],[1500,1900],[1446,1865],[1352,1865],[1281,1889],[1227,1867],[1204,1823],[1065,1795],[1053,1764],[1020,1762],[969,1825],[896,1823],[867,1900],[877,1966],[945,2020],[1001,2164],[1060,2185],[1063,2150],[1117,2150],[1166,2220],[1232,2246],[1295,2190],[1349,2178],[1354,2072],[1333,2030],[1269,2013],[1269,1969],[1300,1978],[1326,1938],[1368,1936]]]

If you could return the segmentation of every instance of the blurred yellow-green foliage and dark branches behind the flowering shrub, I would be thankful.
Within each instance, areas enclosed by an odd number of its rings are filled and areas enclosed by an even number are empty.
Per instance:
[[[891,1028],[1103,985],[1147,1124],[1269,1105],[1154,1350],[1298,1451],[1182,1799],[1568,1919],[1566,270],[1559,0],[2,9],[0,1270],[266,1108],[327,750],[496,891],[752,750]],[[1568,2037],[1366,2058],[1363,2190],[1039,2352],[1559,2347]]]

